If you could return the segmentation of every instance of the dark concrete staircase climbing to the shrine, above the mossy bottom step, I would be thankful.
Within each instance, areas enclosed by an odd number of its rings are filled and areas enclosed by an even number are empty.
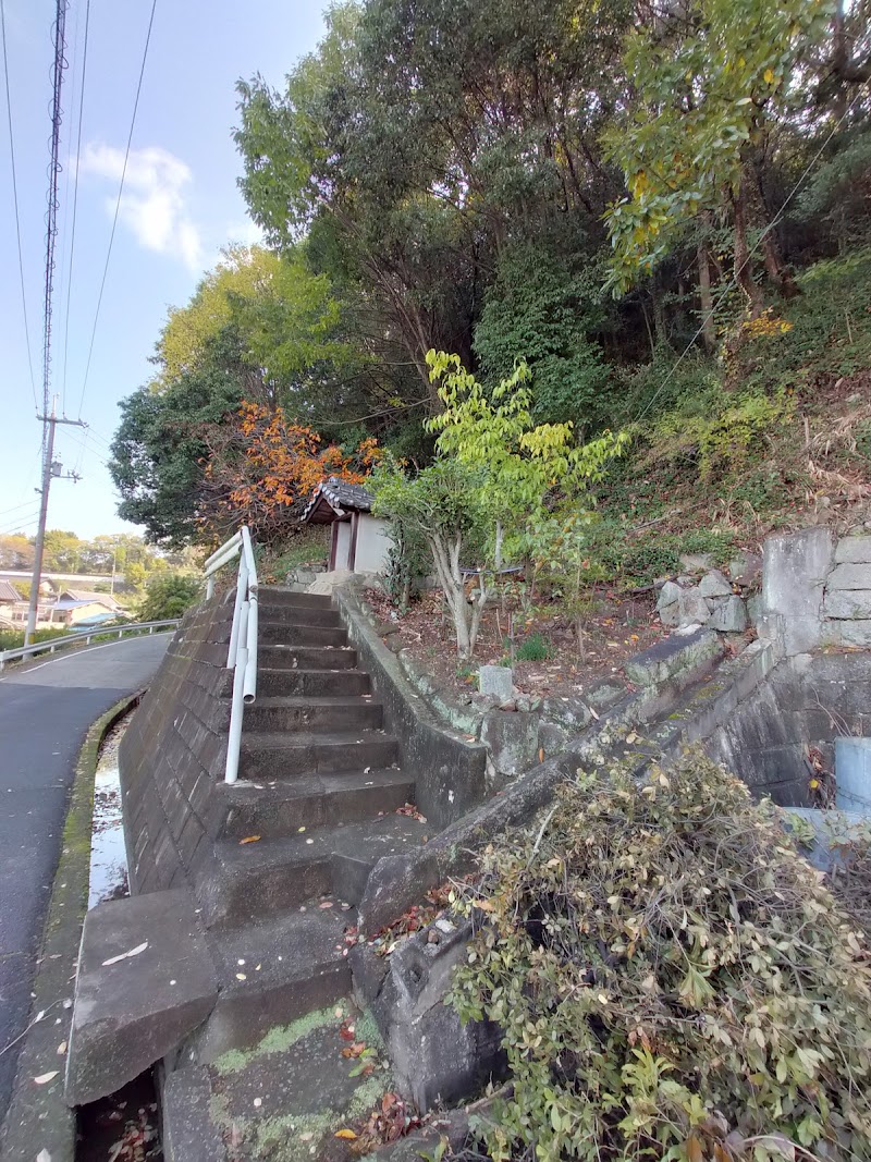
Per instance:
[[[345,930],[369,871],[426,839],[425,823],[396,813],[415,779],[330,597],[261,588],[259,630],[258,698],[239,779],[217,788],[201,890],[221,985],[201,1061],[346,996]]]

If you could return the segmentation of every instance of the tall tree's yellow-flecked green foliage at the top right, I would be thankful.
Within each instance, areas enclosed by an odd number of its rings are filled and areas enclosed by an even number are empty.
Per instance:
[[[688,0],[629,36],[633,99],[606,135],[629,192],[607,215],[617,292],[653,272],[699,214],[726,213],[734,278],[758,310],[748,242],[761,210],[753,167],[794,102],[829,16],[828,0]],[[770,229],[763,250],[775,281],[790,287]]]

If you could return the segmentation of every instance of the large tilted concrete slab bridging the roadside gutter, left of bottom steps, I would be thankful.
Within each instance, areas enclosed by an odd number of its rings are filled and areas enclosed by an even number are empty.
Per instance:
[[[215,967],[187,891],[98,904],[81,937],[66,1100],[84,1105],[132,1081],[175,1049],[216,999]]]

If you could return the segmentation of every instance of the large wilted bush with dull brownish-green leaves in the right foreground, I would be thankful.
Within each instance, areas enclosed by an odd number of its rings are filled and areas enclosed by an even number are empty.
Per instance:
[[[578,773],[465,906],[451,999],[504,1028],[513,1083],[496,1162],[871,1156],[865,937],[701,752]]]

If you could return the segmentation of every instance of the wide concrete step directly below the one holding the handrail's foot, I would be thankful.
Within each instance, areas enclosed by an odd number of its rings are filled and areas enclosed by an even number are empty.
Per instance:
[[[394,813],[288,839],[219,840],[202,895],[206,924],[233,928],[300,908],[321,911],[323,896],[333,897],[337,908],[355,905],[377,860],[422,845],[426,830],[425,823]]]

